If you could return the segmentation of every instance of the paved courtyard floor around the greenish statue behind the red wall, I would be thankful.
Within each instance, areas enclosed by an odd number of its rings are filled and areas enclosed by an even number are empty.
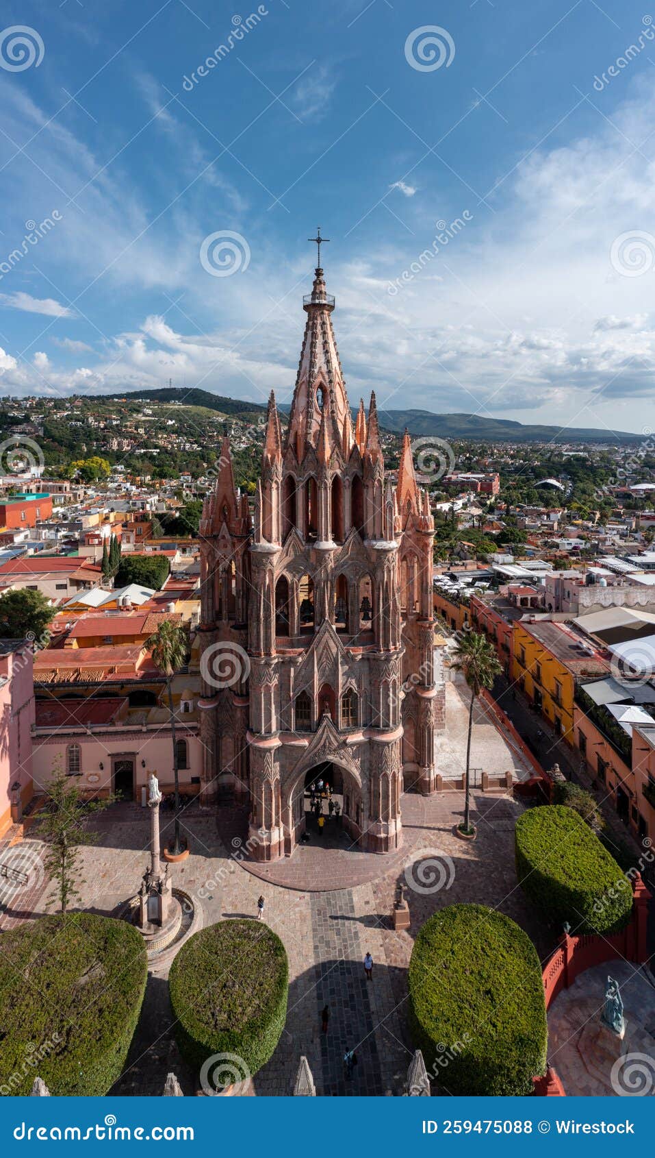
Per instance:
[[[623,1042],[599,1024],[608,974],[618,981],[624,1003]],[[609,961],[583,973],[549,1011],[549,1062],[569,1097],[655,1094],[652,975],[628,961]]]

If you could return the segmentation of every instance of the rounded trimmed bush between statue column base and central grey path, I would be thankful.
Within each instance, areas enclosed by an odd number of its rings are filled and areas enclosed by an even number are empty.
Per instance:
[[[285,946],[259,921],[220,921],[190,937],[169,976],[186,1061],[200,1070],[208,1057],[231,1054],[240,1070],[257,1073],[285,1027],[288,980]]]

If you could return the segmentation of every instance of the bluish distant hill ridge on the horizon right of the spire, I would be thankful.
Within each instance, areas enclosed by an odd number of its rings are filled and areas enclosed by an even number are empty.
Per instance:
[[[414,438],[468,438],[484,442],[638,442],[639,434],[584,427],[524,426],[507,418],[480,415],[433,415],[429,410],[385,410],[380,408],[380,425],[402,433],[405,426]]]

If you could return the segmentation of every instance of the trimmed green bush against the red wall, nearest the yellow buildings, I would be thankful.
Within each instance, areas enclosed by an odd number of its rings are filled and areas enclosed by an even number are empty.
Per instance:
[[[516,821],[516,875],[525,896],[559,930],[623,929],[632,886],[582,818],[565,805],[530,808]]]

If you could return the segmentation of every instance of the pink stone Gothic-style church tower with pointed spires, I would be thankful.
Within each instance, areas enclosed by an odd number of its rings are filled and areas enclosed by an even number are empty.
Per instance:
[[[200,526],[203,797],[220,805],[225,786],[249,801],[260,859],[293,852],[306,783],[328,765],[353,841],[397,848],[403,790],[434,791],[443,726],[434,521],[410,438],[393,486],[375,395],[353,424],[322,269],[303,308],[284,439],[268,402],[253,525],[226,439]],[[236,666],[221,669],[230,646]]]

